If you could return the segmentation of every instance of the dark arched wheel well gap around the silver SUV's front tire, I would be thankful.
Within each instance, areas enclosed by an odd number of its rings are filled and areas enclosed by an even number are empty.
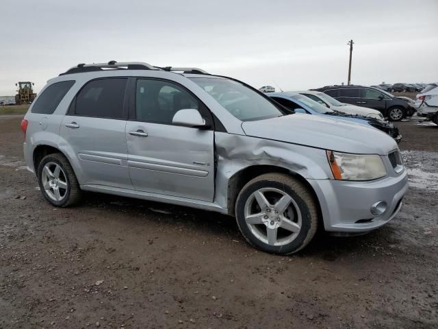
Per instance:
[[[292,177],[305,184],[305,186],[308,188],[309,192],[315,199],[316,204],[318,204],[318,218],[322,219],[320,202],[311,184],[309,184],[309,182],[307,182],[307,180],[298,173],[294,173],[293,171],[289,171],[288,169],[282,167],[275,167],[271,165],[255,165],[246,167],[245,169],[237,171],[237,173],[231,176],[228,181],[227,208],[229,215],[234,216],[235,202],[237,200],[237,196],[239,195],[242,188],[246,185],[246,183],[248,183],[250,180],[253,180],[253,178],[256,178],[257,176],[263,175],[265,173],[285,173],[287,175],[291,175]]]

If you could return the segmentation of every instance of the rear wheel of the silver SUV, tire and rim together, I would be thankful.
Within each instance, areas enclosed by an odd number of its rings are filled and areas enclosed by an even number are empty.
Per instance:
[[[38,164],[38,184],[44,198],[53,206],[68,207],[77,203],[81,197],[75,172],[60,153],[42,158]]]

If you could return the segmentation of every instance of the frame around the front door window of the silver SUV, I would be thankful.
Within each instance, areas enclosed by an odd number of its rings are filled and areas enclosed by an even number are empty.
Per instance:
[[[161,82],[168,82],[170,84],[175,84],[179,88],[183,89],[186,93],[194,97],[194,99],[198,102],[198,111],[201,113],[201,116],[205,119],[205,121],[210,125],[210,128],[208,130],[215,130],[215,120],[214,120],[214,114],[211,113],[209,108],[192,93],[188,88],[185,88],[185,86],[179,84],[178,82],[157,78],[157,77],[131,77],[131,83],[128,82],[129,85],[129,115],[128,120],[129,121],[138,121],[138,122],[145,122],[145,123],[155,123],[157,125],[172,125],[172,123],[166,123],[166,122],[157,122],[157,121],[145,121],[145,120],[138,120],[136,115],[136,97],[137,97],[137,82],[138,80],[157,80]],[[221,123],[222,125],[222,123]],[[223,125],[222,125],[223,127]],[[195,129],[195,128],[194,128]]]

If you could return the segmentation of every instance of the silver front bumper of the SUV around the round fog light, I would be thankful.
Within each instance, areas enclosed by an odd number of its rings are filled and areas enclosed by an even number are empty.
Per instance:
[[[324,228],[329,232],[363,233],[380,228],[393,219],[402,206],[408,188],[407,171],[396,177],[371,182],[309,180],[320,202]],[[385,202],[381,215],[372,205]]]

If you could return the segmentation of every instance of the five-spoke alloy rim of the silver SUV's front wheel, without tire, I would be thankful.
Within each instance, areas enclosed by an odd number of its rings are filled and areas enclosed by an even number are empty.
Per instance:
[[[245,222],[253,235],[268,245],[287,245],[302,226],[300,208],[290,195],[278,188],[260,188],[248,197]]]

